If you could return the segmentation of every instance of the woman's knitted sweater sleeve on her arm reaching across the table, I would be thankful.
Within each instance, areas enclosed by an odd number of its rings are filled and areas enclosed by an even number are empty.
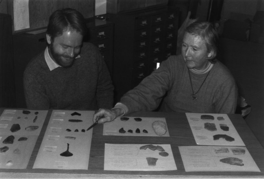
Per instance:
[[[152,111],[158,108],[163,96],[170,88],[173,65],[166,60],[152,74],[147,76],[135,88],[128,91],[120,102],[128,107],[128,113],[134,111]]]

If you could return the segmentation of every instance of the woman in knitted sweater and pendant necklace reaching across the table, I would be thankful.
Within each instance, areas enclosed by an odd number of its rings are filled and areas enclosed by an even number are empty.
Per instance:
[[[111,109],[93,121],[104,123],[135,111],[234,113],[237,87],[230,71],[216,59],[218,35],[209,22],[194,22],[184,33],[182,53],[170,56]],[[99,119],[100,118],[100,119]],[[99,120],[98,120],[99,119]]]

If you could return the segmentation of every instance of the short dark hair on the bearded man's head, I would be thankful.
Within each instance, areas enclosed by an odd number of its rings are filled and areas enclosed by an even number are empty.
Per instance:
[[[51,40],[62,35],[65,30],[76,31],[85,36],[87,26],[83,15],[72,8],[59,9],[53,12],[49,18],[47,34]]]

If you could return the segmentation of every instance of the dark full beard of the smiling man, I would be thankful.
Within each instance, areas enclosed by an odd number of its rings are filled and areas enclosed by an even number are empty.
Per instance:
[[[74,57],[71,58],[71,57],[69,57],[69,56],[67,56],[67,55],[61,55],[61,54],[58,54],[58,53],[55,52],[55,50],[54,50],[53,43],[50,44],[50,54],[52,55],[53,60],[54,60],[58,65],[60,65],[61,67],[64,67],[64,68],[71,67],[71,66],[73,65],[73,63],[74,63],[74,59],[75,59],[75,57],[77,56],[77,55],[74,55]],[[64,57],[64,58],[67,58],[67,59],[70,58],[69,61],[68,61],[68,63],[65,63],[65,62],[63,61],[63,59],[62,59],[63,57]],[[71,60],[71,61],[70,61],[70,60]]]

